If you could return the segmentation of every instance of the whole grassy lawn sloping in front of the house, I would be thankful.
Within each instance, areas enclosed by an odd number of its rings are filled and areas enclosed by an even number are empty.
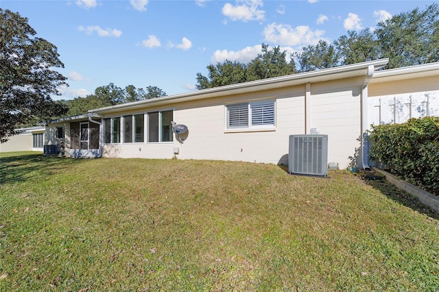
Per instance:
[[[385,182],[1,155],[0,291],[438,291],[439,217]]]

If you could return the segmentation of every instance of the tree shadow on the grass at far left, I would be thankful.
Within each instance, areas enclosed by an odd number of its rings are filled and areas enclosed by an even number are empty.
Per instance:
[[[25,182],[41,175],[67,169],[79,160],[43,154],[26,154],[0,158],[0,183]]]

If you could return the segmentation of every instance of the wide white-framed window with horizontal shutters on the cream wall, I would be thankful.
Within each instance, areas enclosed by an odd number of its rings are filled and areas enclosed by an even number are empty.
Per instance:
[[[258,129],[274,127],[274,99],[229,104],[227,107],[228,129]]]

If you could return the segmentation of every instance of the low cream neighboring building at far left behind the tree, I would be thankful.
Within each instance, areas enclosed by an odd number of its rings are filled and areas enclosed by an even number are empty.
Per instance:
[[[8,142],[0,143],[0,152],[43,151],[45,127],[23,127],[17,129],[21,134],[11,136]]]

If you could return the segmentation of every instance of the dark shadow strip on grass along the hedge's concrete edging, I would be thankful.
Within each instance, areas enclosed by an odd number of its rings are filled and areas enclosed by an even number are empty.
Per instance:
[[[373,175],[380,176],[379,173],[374,173]],[[399,204],[412,208],[413,210],[425,214],[428,217],[439,220],[439,214],[437,212],[422,204],[416,197],[410,195],[410,193],[399,190],[399,188],[396,188],[396,186],[385,180],[385,178],[382,180],[370,180],[364,176],[363,179],[366,184],[381,191],[381,193],[394,200],[394,202],[398,202]]]

